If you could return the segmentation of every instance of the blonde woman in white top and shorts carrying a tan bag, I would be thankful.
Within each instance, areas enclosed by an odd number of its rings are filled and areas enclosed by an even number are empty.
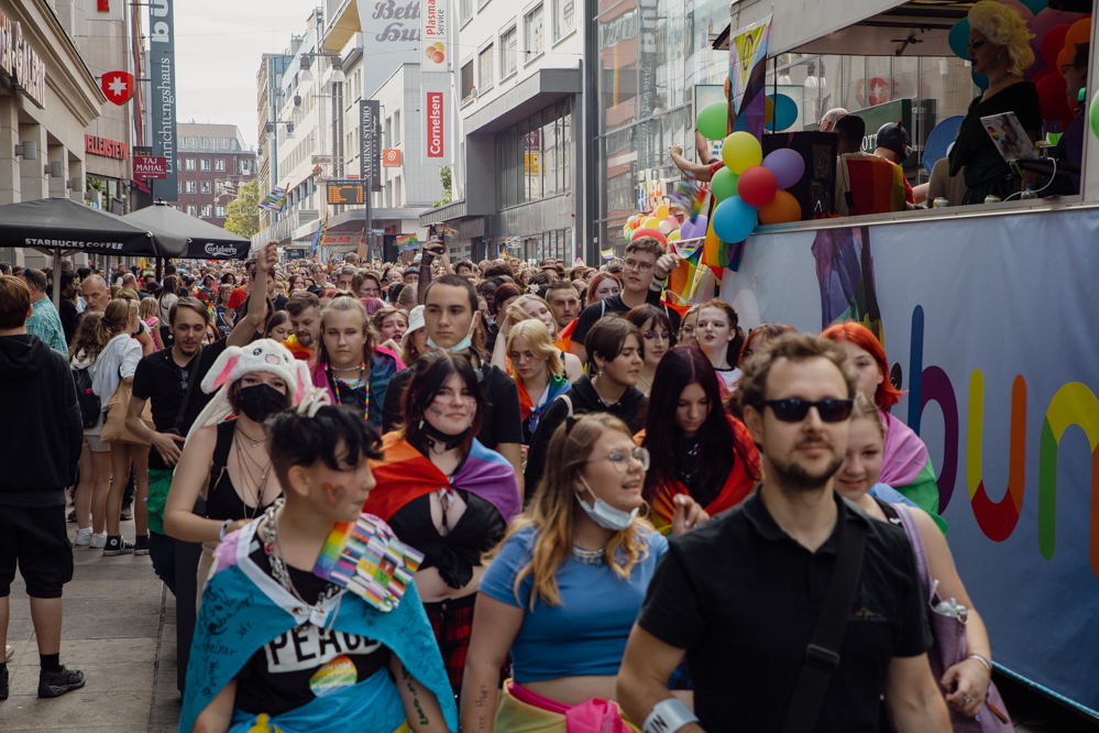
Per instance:
[[[91,391],[105,407],[119,387],[120,381],[133,384],[133,375],[142,357],[141,343],[133,337],[140,329],[141,319],[136,300],[117,298],[103,308],[103,315],[96,328],[100,351],[92,371]],[[145,513],[145,497],[149,495],[149,446],[120,441],[111,442],[110,446],[111,474],[118,477],[118,480],[110,483],[106,495],[92,494],[92,532],[97,528],[102,532],[106,525],[105,556],[149,555],[149,525]],[[135,541],[132,544],[122,537],[119,528],[122,494],[125,492],[125,479],[130,477],[131,464],[138,484],[133,500]]]

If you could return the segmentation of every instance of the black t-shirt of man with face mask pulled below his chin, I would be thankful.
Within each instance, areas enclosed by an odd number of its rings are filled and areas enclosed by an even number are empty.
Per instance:
[[[498,366],[481,362],[481,391],[485,404],[481,415],[481,431],[477,440],[488,450],[496,450],[502,442],[523,444],[523,419],[519,417],[519,390],[515,380]],[[405,369],[393,375],[382,406],[382,433],[396,430],[405,416],[403,401],[405,387],[413,379],[413,369]]]

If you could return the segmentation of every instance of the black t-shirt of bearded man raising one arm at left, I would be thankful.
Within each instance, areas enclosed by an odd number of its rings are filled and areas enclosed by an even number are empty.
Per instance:
[[[213,400],[213,394],[202,392],[201,381],[210,371],[213,362],[221,355],[221,352],[226,350],[227,343],[226,339],[221,339],[202,347],[202,355],[198,363],[199,372],[195,380],[195,391],[190,395],[187,413],[179,426],[180,435],[187,435],[195,418],[202,412],[206,404]],[[195,359],[191,359],[186,366],[176,364],[172,358],[172,349],[151,353],[138,362],[138,371],[133,374],[133,396],[138,400],[149,400],[157,433],[165,433],[175,427],[176,415],[179,414],[179,406],[187,392],[187,380],[194,364]],[[163,471],[171,467],[165,466],[160,451],[154,448],[149,451],[149,468]]]

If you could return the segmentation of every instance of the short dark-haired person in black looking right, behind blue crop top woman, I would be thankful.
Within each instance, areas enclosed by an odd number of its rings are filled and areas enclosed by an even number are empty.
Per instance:
[[[645,364],[641,332],[625,318],[601,318],[587,333],[587,374],[554,400],[542,413],[530,440],[524,471],[528,486],[538,485],[546,467],[546,451],[557,427],[585,413],[611,413],[636,433],[644,427],[646,397],[637,389]]]

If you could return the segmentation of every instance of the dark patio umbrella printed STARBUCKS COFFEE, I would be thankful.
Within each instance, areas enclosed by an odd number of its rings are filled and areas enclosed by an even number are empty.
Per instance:
[[[39,198],[0,206],[0,247],[53,254],[56,270],[63,252],[182,258],[187,239],[69,198]],[[61,288],[55,287],[54,306],[59,303]]]

